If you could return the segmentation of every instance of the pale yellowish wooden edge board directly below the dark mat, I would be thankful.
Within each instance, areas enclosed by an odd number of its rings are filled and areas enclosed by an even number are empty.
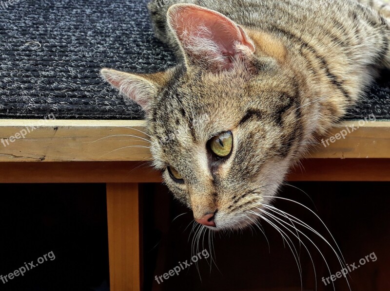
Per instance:
[[[0,162],[149,161],[144,129],[145,121],[2,119]],[[390,121],[343,122],[309,157],[389,159]]]

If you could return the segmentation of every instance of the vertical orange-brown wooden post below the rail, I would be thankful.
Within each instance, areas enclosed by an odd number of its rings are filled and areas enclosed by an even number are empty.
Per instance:
[[[111,291],[140,291],[140,229],[137,183],[107,183]]]

